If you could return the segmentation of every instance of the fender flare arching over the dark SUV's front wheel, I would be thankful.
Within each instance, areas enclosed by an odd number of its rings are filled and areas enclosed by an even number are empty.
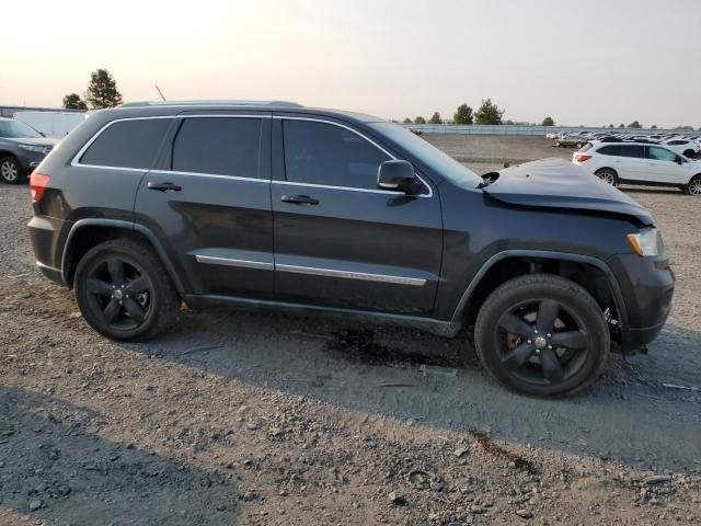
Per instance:
[[[464,315],[464,309],[472,297],[472,293],[480,285],[482,278],[486,275],[486,273],[492,268],[496,263],[502,260],[506,260],[508,258],[533,258],[539,260],[559,260],[559,261],[572,261],[575,263],[585,263],[600,270],[607,277],[609,289],[611,291],[611,296],[613,297],[613,304],[616,306],[616,310],[620,318],[621,328],[622,328],[622,336],[623,344],[628,340],[628,312],[625,310],[625,301],[623,299],[623,293],[621,293],[621,287],[618,284],[618,279],[613,274],[613,271],[609,267],[609,265],[597,258],[593,258],[590,255],[582,255],[582,254],[572,254],[568,252],[553,252],[547,250],[504,250],[502,252],[497,252],[492,255],[478,271],[474,275],[470,285],[464,290],[462,296],[460,297],[460,301],[453,311],[452,318],[450,320],[451,327],[459,327],[461,324],[462,317]]]

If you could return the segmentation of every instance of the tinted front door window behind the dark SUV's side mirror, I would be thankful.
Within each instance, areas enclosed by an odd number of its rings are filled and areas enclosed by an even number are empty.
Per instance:
[[[379,165],[391,158],[359,135],[333,124],[285,121],[287,180],[377,190]]]

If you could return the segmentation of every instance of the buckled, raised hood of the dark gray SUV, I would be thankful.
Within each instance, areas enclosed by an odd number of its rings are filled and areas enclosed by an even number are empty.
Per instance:
[[[564,159],[525,162],[499,170],[498,175],[483,192],[503,203],[617,214],[642,225],[654,222],[653,216],[628,195]]]

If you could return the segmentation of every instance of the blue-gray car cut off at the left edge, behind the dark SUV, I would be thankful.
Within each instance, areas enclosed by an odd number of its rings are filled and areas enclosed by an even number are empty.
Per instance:
[[[0,181],[25,181],[57,142],[26,124],[0,117]]]

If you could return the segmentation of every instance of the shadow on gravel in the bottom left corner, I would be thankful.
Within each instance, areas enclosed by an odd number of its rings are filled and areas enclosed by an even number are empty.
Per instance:
[[[0,522],[238,523],[228,478],[93,431],[106,424],[90,409],[0,386]]]

